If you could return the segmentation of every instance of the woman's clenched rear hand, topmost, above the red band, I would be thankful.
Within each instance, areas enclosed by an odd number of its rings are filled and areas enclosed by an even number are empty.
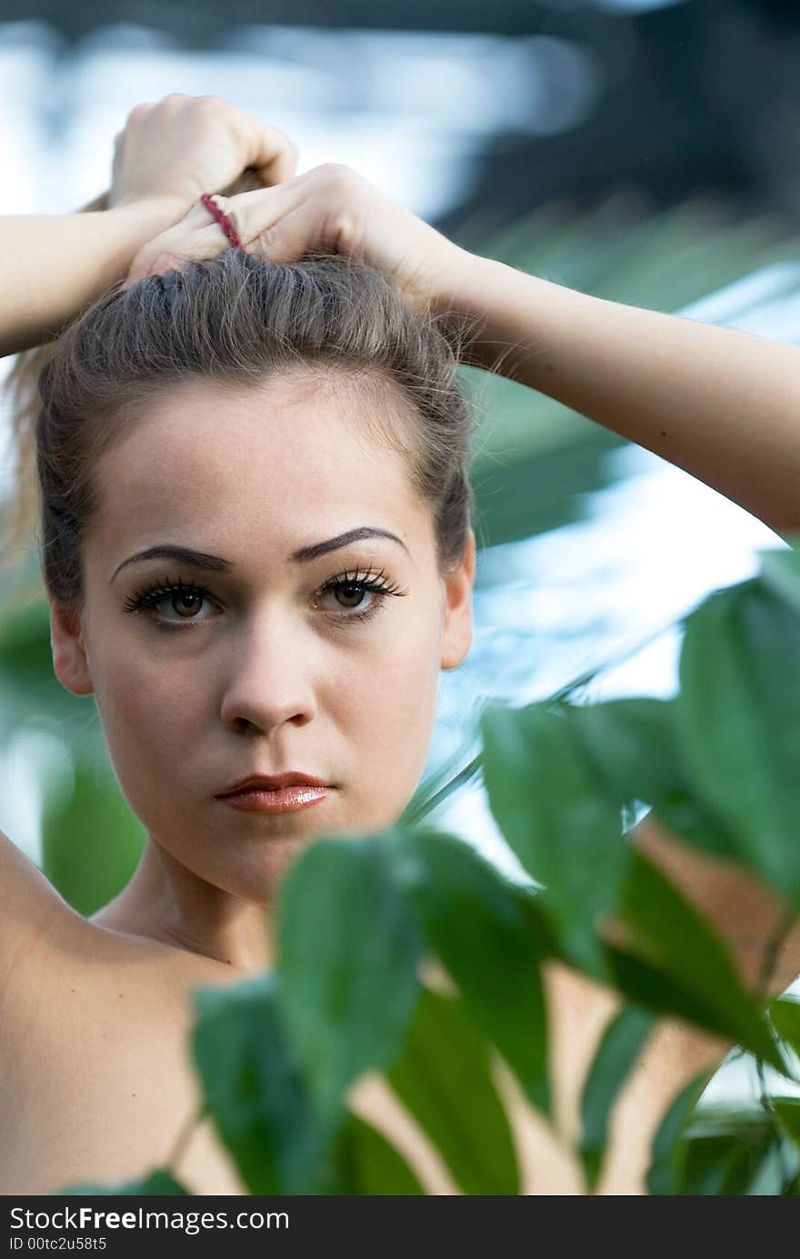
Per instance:
[[[252,169],[267,185],[290,179],[297,150],[281,131],[215,96],[173,92],[137,104],[115,140],[111,208],[164,201],[179,219],[203,193]]]

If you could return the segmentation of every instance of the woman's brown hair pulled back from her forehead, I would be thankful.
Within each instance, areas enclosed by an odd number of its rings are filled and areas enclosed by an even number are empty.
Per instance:
[[[378,271],[333,254],[283,266],[226,249],[115,286],[55,344],[21,355],[11,374],[18,495],[6,529],[10,520],[19,544],[38,517],[45,588],[79,609],[81,539],[100,504],[94,468],[137,405],[183,381],[257,384],[321,368],[373,397],[392,381],[411,404],[413,422],[401,417],[398,427],[383,390],[378,437],[407,456],[447,572],[464,553],[475,507],[476,422],[457,380],[465,331],[414,313]]]

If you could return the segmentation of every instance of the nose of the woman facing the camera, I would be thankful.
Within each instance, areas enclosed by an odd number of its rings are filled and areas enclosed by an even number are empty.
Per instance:
[[[285,721],[305,725],[316,713],[314,643],[296,617],[261,612],[231,642],[226,661],[222,719],[247,721],[265,734]]]

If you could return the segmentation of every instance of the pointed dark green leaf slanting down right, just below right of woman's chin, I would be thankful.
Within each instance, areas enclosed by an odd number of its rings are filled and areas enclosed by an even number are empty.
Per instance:
[[[397,831],[397,879],[428,944],[465,1006],[500,1050],[524,1093],[549,1112],[547,1011],[538,901],[464,840],[441,831]]]

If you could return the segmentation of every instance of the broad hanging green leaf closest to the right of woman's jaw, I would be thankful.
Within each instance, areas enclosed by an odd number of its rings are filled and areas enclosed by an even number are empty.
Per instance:
[[[620,811],[571,723],[544,704],[481,714],[491,812],[524,869],[543,883],[542,910],[567,959],[607,978],[596,919],[622,895],[630,845]]]

